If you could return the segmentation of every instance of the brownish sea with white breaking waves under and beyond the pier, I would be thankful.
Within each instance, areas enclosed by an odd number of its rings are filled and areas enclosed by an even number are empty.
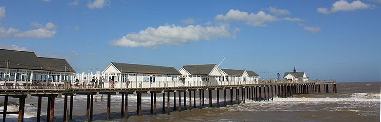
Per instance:
[[[331,87],[331,86],[330,86]],[[170,97],[169,113],[162,111],[162,94],[157,94],[157,116],[150,114],[150,94],[142,95],[143,116],[136,114],[136,94],[128,95],[127,120],[121,115],[121,95],[111,96],[111,122],[380,122],[380,92],[381,82],[338,82],[337,94],[311,93],[294,95],[289,98],[274,97],[273,101],[224,105],[223,91],[220,91],[220,106],[216,104],[213,93],[213,107],[208,107],[208,97],[205,97],[205,107],[199,107],[198,92],[196,92],[196,108],[189,108],[189,93],[187,93],[187,108],[182,105],[181,111],[173,110],[173,97]],[[234,90],[235,91],[235,90]],[[230,90],[227,90],[227,99]],[[172,96],[170,94],[170,96]],[[205,93],[207,96],[208,94]],[[167,95],[166,95],[167,97]],[[181,94],[184,102],[183,93]],[[193,97],[193,93],[192,93]],[[69,97],[70,98],[70,97]],[[86,121],[86,95],[76,95],[73,105],[73,120]],[[94,96],[93,122],[106,122],[106,95]],[[102,99],[103,98],[103,99]],[[235,99],[235,96],[234,96]],[[0,97],[0,111],[3,111],[4,98]],[[37,97],[26,99],[25,122],[36,122]],[[55,99],[54,121],[63,121],[63,97]],[[193,100],[193,98],[192,98]],[[167,98],[166,98],[167,101]],[[166,102],[167,103],[167,102]],[[18,111],[18,99],[9,97],[8,111]],[[46,121],[47,98],[42,98],[41,121]],[[183,104],[183,103],[182,103]],[[167,104],[166,104],[167,105]],[[193,105],[193,103],[192,103]],[[176,94],[178,107],[178,93]],[[8,114],[6,122],[17,122],[17,114]],[[0,116],[2,121],[2,116]]]

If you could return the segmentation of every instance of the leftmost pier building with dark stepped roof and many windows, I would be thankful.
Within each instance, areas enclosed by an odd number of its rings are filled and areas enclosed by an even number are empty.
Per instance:
[[[33,52],[0,49],[0,81],[17,83],[73,81],[75,70],[64,59],[37,57]]]

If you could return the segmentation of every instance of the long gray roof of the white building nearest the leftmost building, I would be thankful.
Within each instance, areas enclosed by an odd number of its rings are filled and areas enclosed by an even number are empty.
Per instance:
[[[146,73],[146,74],[164,74],[164,75],[181,75],[173,67],[167,66],[152,66],[152,65],[141,65],[141,64],[129,64],[129,63],[118,63],[111,62],[119,71],[124,73]]]

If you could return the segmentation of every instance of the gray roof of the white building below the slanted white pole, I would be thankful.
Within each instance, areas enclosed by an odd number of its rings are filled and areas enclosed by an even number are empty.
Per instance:
[[[209,75],[216,64],[185,65],[183,68],[192,75]]]

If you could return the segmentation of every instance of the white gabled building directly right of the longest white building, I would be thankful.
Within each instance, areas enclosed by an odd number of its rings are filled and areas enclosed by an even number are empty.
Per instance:
[[[225,81],[225,73],[216,64],[184,65],[179,72],[180,80],[187,85],[218,85]],[[193,84],[191,84],[193,83]]]

